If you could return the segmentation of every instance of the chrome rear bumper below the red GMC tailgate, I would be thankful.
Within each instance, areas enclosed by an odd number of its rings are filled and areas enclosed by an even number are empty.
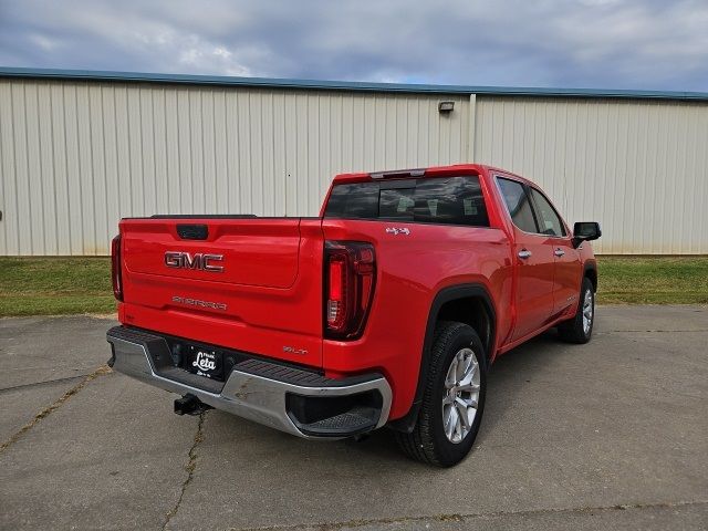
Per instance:
[[[337,381],[249,358],[236,364],[220,383],[173,366],[160,335],[116,326],[106,339],[115,371],[173,393],[191,394],[217,409],[299,437],[343,438],[379,428],[388,419],[391,386],[379,374]],[[299,418],[302,404],[326,403],[327,398],[340,398],[354,407],[332,417]],[[360,398],[363,407],[356,405]],[[295,403],[299,406],[293,406]]]

